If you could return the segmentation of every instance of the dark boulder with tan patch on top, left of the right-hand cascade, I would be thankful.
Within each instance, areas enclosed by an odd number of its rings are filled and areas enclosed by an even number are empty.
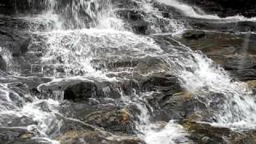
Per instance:
[[[194,108],[198,106],[198,102],[194,100],[193,95],[186,92],[154,94],[148,98],[148,102],[154,108],[154,119],[166,122],[170,119],[189,117],[194,114]]]

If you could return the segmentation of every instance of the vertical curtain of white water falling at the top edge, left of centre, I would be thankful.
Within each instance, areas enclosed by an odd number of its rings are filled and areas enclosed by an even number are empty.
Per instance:
[[[54,30],[82,29],[95,26],[110,28],[110,25],[115,25],[115,15],[110,0],[44,0],[39,3],[38,0],[29,0],[28,3],[32,12],[38,10],[38,7],[42,9],[37,12],[37,17],[53,22]],[[108,25],[106,21],[110,21],[111,24]]]

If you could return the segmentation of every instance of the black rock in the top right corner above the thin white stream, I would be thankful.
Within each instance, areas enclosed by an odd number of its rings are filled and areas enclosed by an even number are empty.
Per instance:
[[[251,18],[256,16],[254,0],[181,0],[193,6],[198,6],[209,14],[220,17],[243,15]]]

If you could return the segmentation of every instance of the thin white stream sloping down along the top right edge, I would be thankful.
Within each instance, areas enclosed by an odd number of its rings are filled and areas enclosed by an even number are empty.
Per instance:
[[[194,10],[194,8],[192,6],[186,5],[182,2],[178,2],[177,0],[156,0],[156,1],[164,3],[169,6],[174,6],[174,8],[181,10],[182,13],[184,13],[187,16],[192,17],[192,18],[228,20],[228,21],[233,21],[233,22],[237,22],[237,21],[253,21],[253,22],[255,22],[256,21],[256,18],[245,18],[241,15],[220,18],[220,17],[218,17],[218,15],[204,14],[202,10],[200,10],[200,11],[202,11],[202,14],[198,14],[198,12],[196,12],[196,10]]]

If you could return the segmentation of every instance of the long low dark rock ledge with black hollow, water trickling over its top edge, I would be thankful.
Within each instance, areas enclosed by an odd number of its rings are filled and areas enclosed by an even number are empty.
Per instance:
[[[121,98],[122,94],[134,94],[139,91],[138,82],[125,80],[123,82],[107,82],[82,79],[62,79],[58,82],[49,82],[38,87],[38,90],[48,98],[55,92],[64,92],[64,99],[78,102],[90,98],[103,100],[104,98]],[[134,91],[136,90],[136,91]]]

